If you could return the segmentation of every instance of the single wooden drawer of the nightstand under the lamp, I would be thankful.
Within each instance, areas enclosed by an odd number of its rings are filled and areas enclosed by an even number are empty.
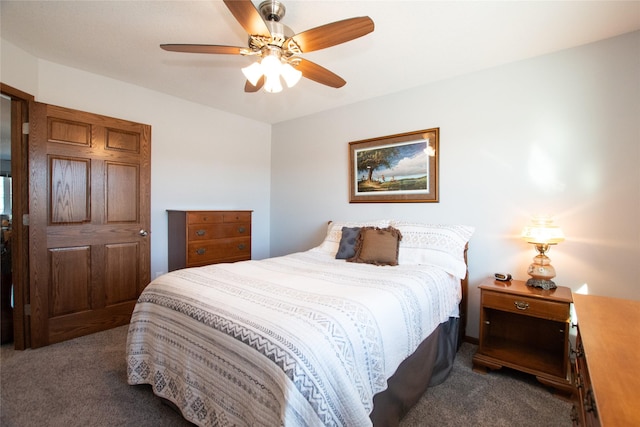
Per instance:
[[[482,306],[559,322],[567,321],[570,315],[569,304],[486,290],[482,292]]]

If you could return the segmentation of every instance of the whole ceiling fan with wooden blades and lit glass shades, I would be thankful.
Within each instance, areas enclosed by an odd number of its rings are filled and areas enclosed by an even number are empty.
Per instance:
[[[362,16],[295,34],[280,23],[286,9],[279,1],[263,1],[258,8],[251,0],[224,0],[224,4],[249,34],[248,47],[204,44],[162,44],[160,47],[172,52],[260,58],[259,62],[242,69],[247,77],[245,92],[257,92],[262,87],[267,92],[280,92],[281,76],[288,87],[293,87],[300,77],[334,88],[342,87],[346,81],[340,76],[298,55],[348,42],[369,34],[374,29],[371,18]]]

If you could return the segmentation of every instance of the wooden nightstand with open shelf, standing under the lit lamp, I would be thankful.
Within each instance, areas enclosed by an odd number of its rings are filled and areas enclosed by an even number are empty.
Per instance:
[[[506,366],[571,394],[571,289],[544,290],[520,280],[488,279],[480,285],[480,294],[480,345],[473,369],[486,373]]]

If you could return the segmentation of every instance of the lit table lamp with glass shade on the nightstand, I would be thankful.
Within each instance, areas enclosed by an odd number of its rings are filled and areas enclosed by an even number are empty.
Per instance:
[[[527,280],[528,286],[542,289],[555,289],[556,284],[551,280],[556,276],[556,270],[551,265],[551,260],[546,255],[549,246],[558,244],[564,240],[564,234],[549,217],[534,217],[531,224],[522,229],[522,238],[525,242],[535,245],[538,255],[533,258],[527,273],[531,278]]]

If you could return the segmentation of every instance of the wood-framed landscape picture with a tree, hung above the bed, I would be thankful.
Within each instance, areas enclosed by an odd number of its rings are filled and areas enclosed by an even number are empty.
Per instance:
[[[349,143],[349,202],[438,202],[440,128]]]

